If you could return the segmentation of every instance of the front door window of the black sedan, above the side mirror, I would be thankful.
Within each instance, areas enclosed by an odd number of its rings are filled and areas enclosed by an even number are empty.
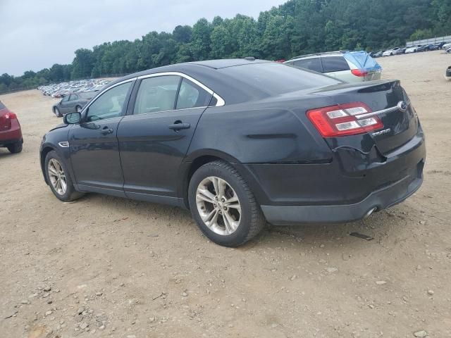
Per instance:
[[[104,120],[106,118],[117,118],[123,115],[125,99],[132,85],[132,81],[119,84],[101,94],[88,108],[87,118],[89,121]]]

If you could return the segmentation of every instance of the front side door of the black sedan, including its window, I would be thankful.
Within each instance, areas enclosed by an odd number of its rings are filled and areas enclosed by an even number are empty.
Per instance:
[[[125,196],[116,134],[133,84],[134,79],[106,89],[69,130],[70,161],[82,191]]]

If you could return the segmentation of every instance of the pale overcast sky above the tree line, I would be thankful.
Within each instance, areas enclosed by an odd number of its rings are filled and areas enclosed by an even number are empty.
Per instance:
[[[71,63],[74,51],[103,42],[172,32],[199,18],[258,18],[286,0],[0,0],[0,74]]]

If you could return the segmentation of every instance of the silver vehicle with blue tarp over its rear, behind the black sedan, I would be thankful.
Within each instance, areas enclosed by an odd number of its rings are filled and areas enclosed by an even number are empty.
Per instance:
[[[382,67],[366,51],[332,51],[297,56],[286,65],[314,70],[345,82],[380,80]]]

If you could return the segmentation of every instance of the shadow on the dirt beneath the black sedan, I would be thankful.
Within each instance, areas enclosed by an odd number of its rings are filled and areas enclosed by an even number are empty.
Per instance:
[[[146,220],[161,220],[156,222],[156,229],[160,227],[166,228],[168,224],[173,225],[173,231],[187,231],[188,236],[192,236],[190,240],[196,240],[202,233],[198,230],[190,211],[175,206],[166,206],[163,204],[154,204],[145,201],[135,201],[132,199],[121,199],[118,197],[106,196],[101,194],[86,194],[80,200],[89,206],[98,205],[101,208],[108,208],[118,211],[126,215],[128,218],[141,220],[145,225]],[[373,213],[364,220],[352,223],[337,224],[306,224],[306,225],[290,225],[290,226],[274,226],[267,224],[261,234],[243,245],[241,249],[249,250],[258,246],[285,246],[288,241],[301,244],[304,246],[321,245],[323,243],[340,243],[345,246],[342,249],[352,249],[362,246],[362,244],[381,243],[388,237],[401,238],[405,237],[409,220],[407,219],[408,207],[405,205],[395,206],[388,210]],[[366,240],[360,237],[352,236],[352,233],[362,234],[371,237]],[[290,244],[291,245],[291,244]]]

